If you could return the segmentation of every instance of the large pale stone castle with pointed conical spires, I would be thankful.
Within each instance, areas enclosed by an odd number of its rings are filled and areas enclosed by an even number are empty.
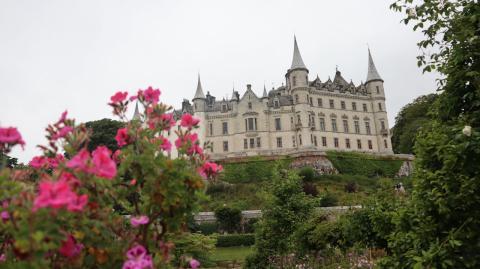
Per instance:
[[[333,81],[309,80],[296,38],[285,85],[257,96],[251,85],[230,100],[204,94],[200,76],[193,104],[174,111],[201,120],[200,141],[210,141],[213,159],[255,155],[290,155],[311,151],[393,154],[383,79],[368,50],[365,83],[347,82],[340,71]]]

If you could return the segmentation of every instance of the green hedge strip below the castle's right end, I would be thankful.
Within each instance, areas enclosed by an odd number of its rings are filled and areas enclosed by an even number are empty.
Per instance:
[[[403,163],[403,160],[392,157],[380,157],[356,152],[328,151],[327,158],[342,174],[367,177],[394,177]]]

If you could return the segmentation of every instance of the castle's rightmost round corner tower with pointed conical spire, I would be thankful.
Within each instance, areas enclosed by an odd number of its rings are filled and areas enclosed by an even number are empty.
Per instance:
[[[365,85],[367,92],[372,96],[372,109],[374,112],[374,126],[377,134],[378,150],[383,153],[393,153],[388,127],[387,108],[385,105],[383,79],[380,77],[380,74],[378,74],[370,49],[368,49],[368,72]]]

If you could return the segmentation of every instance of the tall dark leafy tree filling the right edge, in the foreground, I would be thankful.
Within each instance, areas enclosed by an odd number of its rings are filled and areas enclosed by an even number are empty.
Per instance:
[[[480,267],[480,5],[432,0],[391,6],[407,11],[425,39],[418,56],[438,70],[433,121],[415,143],[412,199],[397,211],[384,268]],[[427,50],[428,49],[428,50]]]

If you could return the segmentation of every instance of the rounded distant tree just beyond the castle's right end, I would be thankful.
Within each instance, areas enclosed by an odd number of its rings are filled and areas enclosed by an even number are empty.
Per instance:
[[[432,116],[428,111],[436,98],[436,94],[422,95],[400,110],[392,128],[392,146],[395,153],[413,154],[415,137],[420,128],[431,121]]]

